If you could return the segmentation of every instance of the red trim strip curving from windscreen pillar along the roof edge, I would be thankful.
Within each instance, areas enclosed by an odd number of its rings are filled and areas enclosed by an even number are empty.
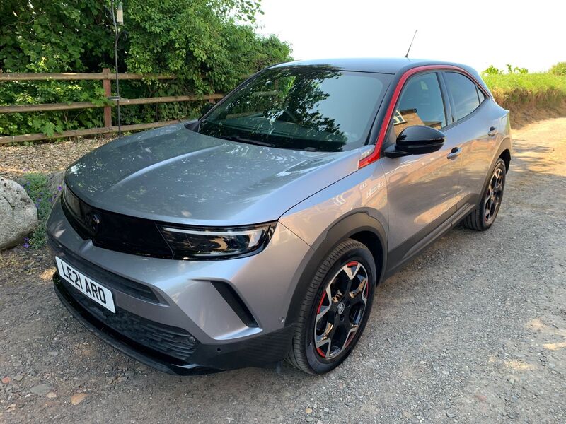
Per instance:
[[[379,134],[377,134],[377,140],[374,151],[359,161],[359,165],[358,165],[359,168],[369,165],[370,163],[373,163],[379,159],[379,152],[381,151],[381,146],[383,146],[383,140],[385,139],[385,135],[389,127],[389,122],[391,122],[391,118],[393,117],[393,112],[395,111],[395,105],[397,105],[397,100],[399,100],[399,95],[401,93],[401,90],[403,90],[403,86],[405,86],[405,82],[411,76],[415,75],[415,73],[419,73],[422,71],[441,71],[443,69],[451,69],[463,73],[468,78],[470,78],[470,80],[476,83],[487,97],[492,97],[490,93],[487,93],[485,88],[483,88],[482,84],[478,83],[478,80],[476,80],[473,75],[471,75],[468,71],[458,66],[425,65],[425,66],[417,66],[416,68],[412,68],[409,69],[408,71],[405,71],[405,73],[403,73],[403,75],[399,79],[397,86],[395,86],[395,91],[393,92],[393,96],[391,96],[391,101],[389,102],[389,105],[385,112],[385,116],[383,117],[383,122],[381,123],[381,127],[379,128]]]

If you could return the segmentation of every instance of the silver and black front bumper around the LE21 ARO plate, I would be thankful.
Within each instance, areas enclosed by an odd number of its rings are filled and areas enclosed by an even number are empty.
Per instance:
[[[47,230],[54,254],[112,291],[117,313],[81,298],[55,273],[59,299],[88,329],[132,358],[163,372],[194,375],[260,367],[287,355],[294,326],[282,317],[309,248],[284,226],[260,254],[201,263],[95,247],[74,232],[59,204]],[[294,265],[282,262],[285,257]]]

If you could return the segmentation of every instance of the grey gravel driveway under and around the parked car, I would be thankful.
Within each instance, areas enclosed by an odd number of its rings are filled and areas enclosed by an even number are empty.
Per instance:
[[[64,310],[46,252],[0,254],[0,423],[565,423],[566,119],[514,137],[492,229],[456,228],[383,283],[323,377],[151,370]]]

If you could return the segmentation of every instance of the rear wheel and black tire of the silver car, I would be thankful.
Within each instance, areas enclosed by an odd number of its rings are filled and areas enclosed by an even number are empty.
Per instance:
[[[500,187],[497,189],[498,192],[495,194],[494,200],[492,184],[494,178],[498,179],[497,175],[500,175]],[[499,158],[491,172],[490,179],[487,180],[487,184],[483,189],[483,195],[480,199],[480,203],[468,216],[466,216],[466,218],[462,220],[462,225],[464,227],[470,228],[470,230],[485,231],[488,230],[493,223],[495,223],[495,218],[497,218],[497,213],[499,212],[501,201],[503,199],[506,176],[507,168],[505,167],[503,159]]]

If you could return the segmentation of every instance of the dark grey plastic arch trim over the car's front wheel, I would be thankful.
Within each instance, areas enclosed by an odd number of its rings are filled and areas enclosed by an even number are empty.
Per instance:
[[[287,325],[296,322],[301,302],[308,288],[308,282],[314,278],[320,263],[334,247],[347,238],[352,238],[366,245],[376,263],[376,282],[379,283],[383,279],[387,260],[386,231],[381,222],[377,218],[370,216],[367,211],[351,213],[330,225],[313,242],[309,251],[310,254],[305,257],[303,263],[296,271],[294,281],[297,283],[291,296],[289,309],[287,310],[285,319]]]

